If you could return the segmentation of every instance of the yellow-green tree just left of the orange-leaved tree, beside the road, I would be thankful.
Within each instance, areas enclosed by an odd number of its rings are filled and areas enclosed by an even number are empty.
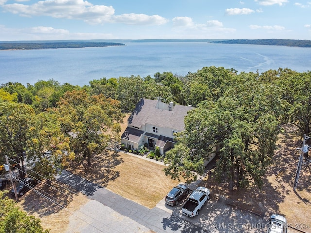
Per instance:
[[[74,159],[69,135],[62,133],[59,116],[52,110],[35,115],[31,119],[27,141],[27,160],[33,170],[49,180],[55,179]],[[37,179],[41,179],[33,174]]]

